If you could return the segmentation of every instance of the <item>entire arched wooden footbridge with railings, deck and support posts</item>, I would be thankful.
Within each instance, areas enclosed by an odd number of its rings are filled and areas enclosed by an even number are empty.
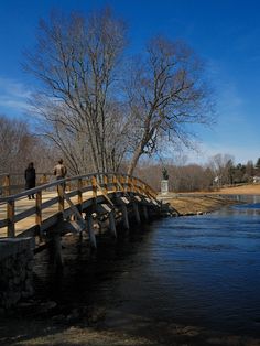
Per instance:
[[[141,180],[126,174],[94,173],[46,183],[12,194],[11,176],[0,175],[0,238],[34,237],[36,248],[51,234],[87,231],[96,247],[94,220],[107,223],[117,237],[117,220],[148,220],[160,213],[156,193]],[[35,199],[28,195],[34,194]]]

